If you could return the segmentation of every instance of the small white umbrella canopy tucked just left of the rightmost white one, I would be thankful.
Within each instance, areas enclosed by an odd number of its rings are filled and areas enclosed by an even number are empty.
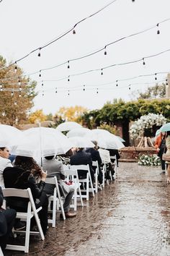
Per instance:
[[[68,138],[69,142],[71,142],[72,148],[94,148],[94,144],[85,137],[70,137]]]

